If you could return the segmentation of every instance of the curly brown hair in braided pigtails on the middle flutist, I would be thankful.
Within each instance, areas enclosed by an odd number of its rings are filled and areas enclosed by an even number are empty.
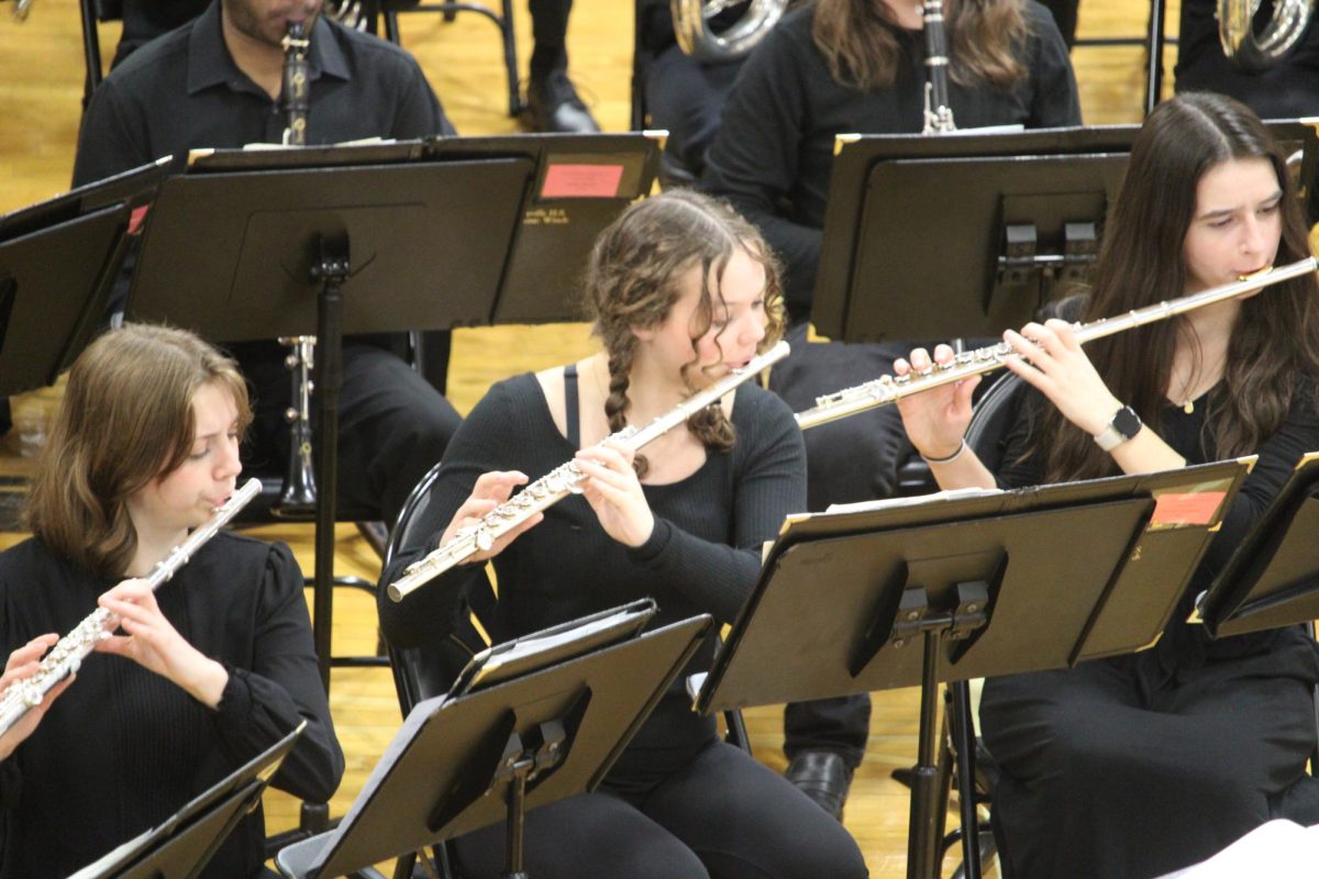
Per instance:
[[[737,250],[765,269],[768,326],[761,351],[783,335],[783,298],[778,265],[760,232],[731,207],[691,190],[673,190],[637,202],[624,211],[595,241],[587,266],[587,311],[594,332],[604,343],[609,362],[609,397],[604,412],[609,430],[627,426],[628,382],[637,337],[633,329],[665,322],[682,297],[682,279],[700,271],[698,326],[691,328],[692,358],[683,365],[683,378],[698,361],[695,343],[714,322],[724,269]],[[711,283],[714,275],[714,283]],[[719,343],[719,336],[715,336]],[[710,406],[687,420],[691,432],[707,447],[732,448],[733,426],[723,409]],[[645,457],[636,457],[645,476]]]

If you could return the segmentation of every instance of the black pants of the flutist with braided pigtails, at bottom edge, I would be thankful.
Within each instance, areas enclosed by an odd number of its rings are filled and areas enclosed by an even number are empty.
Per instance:
[[[603,789],[603,788],[601,788]],[[583,793],[526,816],[536,879],[849,879],[843,826],[744,751],[711,742],[644,796]],[[504,825],[458,839],[470,879],[504,870]]]

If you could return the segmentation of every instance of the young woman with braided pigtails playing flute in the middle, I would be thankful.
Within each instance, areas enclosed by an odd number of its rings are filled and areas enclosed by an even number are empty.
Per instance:
[[[645,426],[781,332],[773,256],[754,227],[694,192],[628,208],[599,237],[587,300],[604,351],[495,385],[450,445],[419,532],[431,547],[474,525],[514,488],[574,460],[570,496],[492,550],[505,640],[652,597],[658,622],[710,613],[731,622],[760,571],[762,542],[805,502],[801,434],[787,407],[752,382],[646,445],[604,444]],[[534,526],[534,527],[533,527]],[[383,576],[393,581],[422,547]],[[381,600],[385,637],[441,643],[467,596],[489,589],[464,564],[401,604]],[[381,590],[384,594],[384,590]],[[856,843],[782,778],[715,735],[691,710],[687,673],[708,669],[714,637],[674,681],[596,792],[526,817],[534,876],[864,876]],[[463,874],[499,876],[503,826],[458,839]]]

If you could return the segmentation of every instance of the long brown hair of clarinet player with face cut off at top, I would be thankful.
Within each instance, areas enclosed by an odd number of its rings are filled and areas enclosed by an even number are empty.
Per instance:
[[[1026,76],[1020,59],[1030,26],[1022,0],[946,0],[948,76],[1009,90]],[[898,22],[882,0],[815,0],[811,37],[840,86],[873,91],[897,76]]]

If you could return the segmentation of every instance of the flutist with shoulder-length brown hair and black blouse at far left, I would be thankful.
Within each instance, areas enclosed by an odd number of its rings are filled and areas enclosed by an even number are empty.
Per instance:
[[[233,361],[179,329],[128,324],[74,364],[28,497],[33,538],[0,553],[0,688],[98,605],[120,629],[0,737],[4,879],[94,862],[302,721],[274,787],[324,801],[339,785],[289,548],[220,532],[158,592],[140,580],[233,492],[249,419]],[[259,809],[202,875],[270,875],[264,841]]]

